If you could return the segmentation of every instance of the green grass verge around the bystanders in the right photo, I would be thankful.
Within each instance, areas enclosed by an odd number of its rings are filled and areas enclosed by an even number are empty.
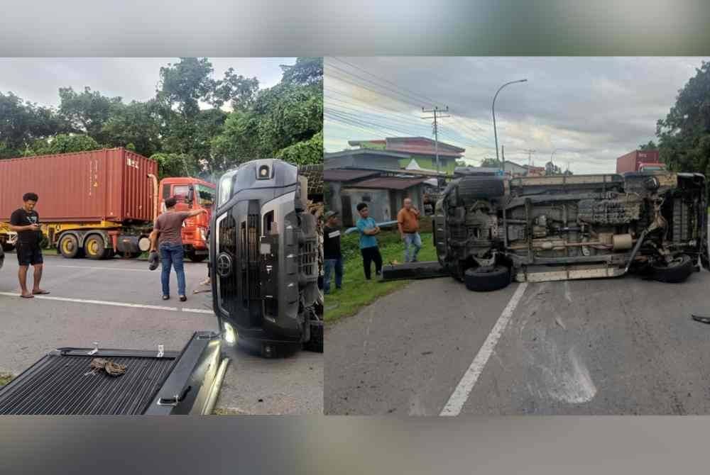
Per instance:
[[[423,223],[422,223],[423,224]],[[422,226],[423,228],[423,226]],[[422,250],[417,259],[420,261],[436,260],[436,250],[432,242],[430,227],[422,229]],[[383,264],[404,262],[404,242],[396,230],[383,230],[377,237]],[[403,289],[410,281],[380,282],[375,279],[374,264],[372,280],[366,280],[362,267],[358,233],[343,236],[341,246],[344,257],[343,289],[336,290],[334,277],[331,281],[331,293],[325,296],[325,321],[332,323],[340,318],[355,315],[361,308],[373,303],[378,298]]]

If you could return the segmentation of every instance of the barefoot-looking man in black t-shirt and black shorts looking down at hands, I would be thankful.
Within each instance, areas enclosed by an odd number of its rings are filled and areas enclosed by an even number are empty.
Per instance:
[[[20,265],[18,279],[20,280],[21,297],[23,298],[49,294],[48,291],[40,289],[43,259],[40,247],[40,242],[42,241],[40,216],[35,211],[37,200],[37,194],[26,193],[22,197],[24,202],[22,208],[17,209],[10,217],[10,229],[17,233],[17,263]],[[27,269],[30,266],[35,269],[34,286],[31,292],[27,290]]]

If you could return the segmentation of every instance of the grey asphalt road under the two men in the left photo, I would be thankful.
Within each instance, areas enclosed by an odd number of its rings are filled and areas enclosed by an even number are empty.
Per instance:
[[[192,294],[206,289],[199,285],[207,276],[206,264],[185,263],[185,303],[177,298],[174,273],[173,298],[160,298],[159,273],[148,271],[144,261],[48,255],[42,287],[51,294],[26,300],[8,295],[18,294],[19,286],[16,257],[6,255],[0,269],[0,372],[18,374],[57,347],[92,347],[92,342],[99,342],[104,348],[157,351],[162,344],[165,350],[181,350],[193,332],[217,330],[211,295]],[[322,413],[322,354],[297,352],[285,359],[263,359],[239,348],[226,348],[225,353],[230,364],[218,409],[248,414]]]

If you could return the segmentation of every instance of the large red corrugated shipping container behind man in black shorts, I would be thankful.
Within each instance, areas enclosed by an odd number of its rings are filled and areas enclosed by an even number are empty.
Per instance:
[[[43,223],[153,220],[158,164],[124,148],[0,160],[0,220],[38,194]]]

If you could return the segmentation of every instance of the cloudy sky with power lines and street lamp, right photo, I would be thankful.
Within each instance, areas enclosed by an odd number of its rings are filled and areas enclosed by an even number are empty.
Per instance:
[[[449,106],[439,140],[466,149],[466,161],[495,157],[572,172],[614,172],[616,157],[655,139],[699,57],[333,57],[325,61],[324,147],[347,140],[431,137],[422,106]]]

